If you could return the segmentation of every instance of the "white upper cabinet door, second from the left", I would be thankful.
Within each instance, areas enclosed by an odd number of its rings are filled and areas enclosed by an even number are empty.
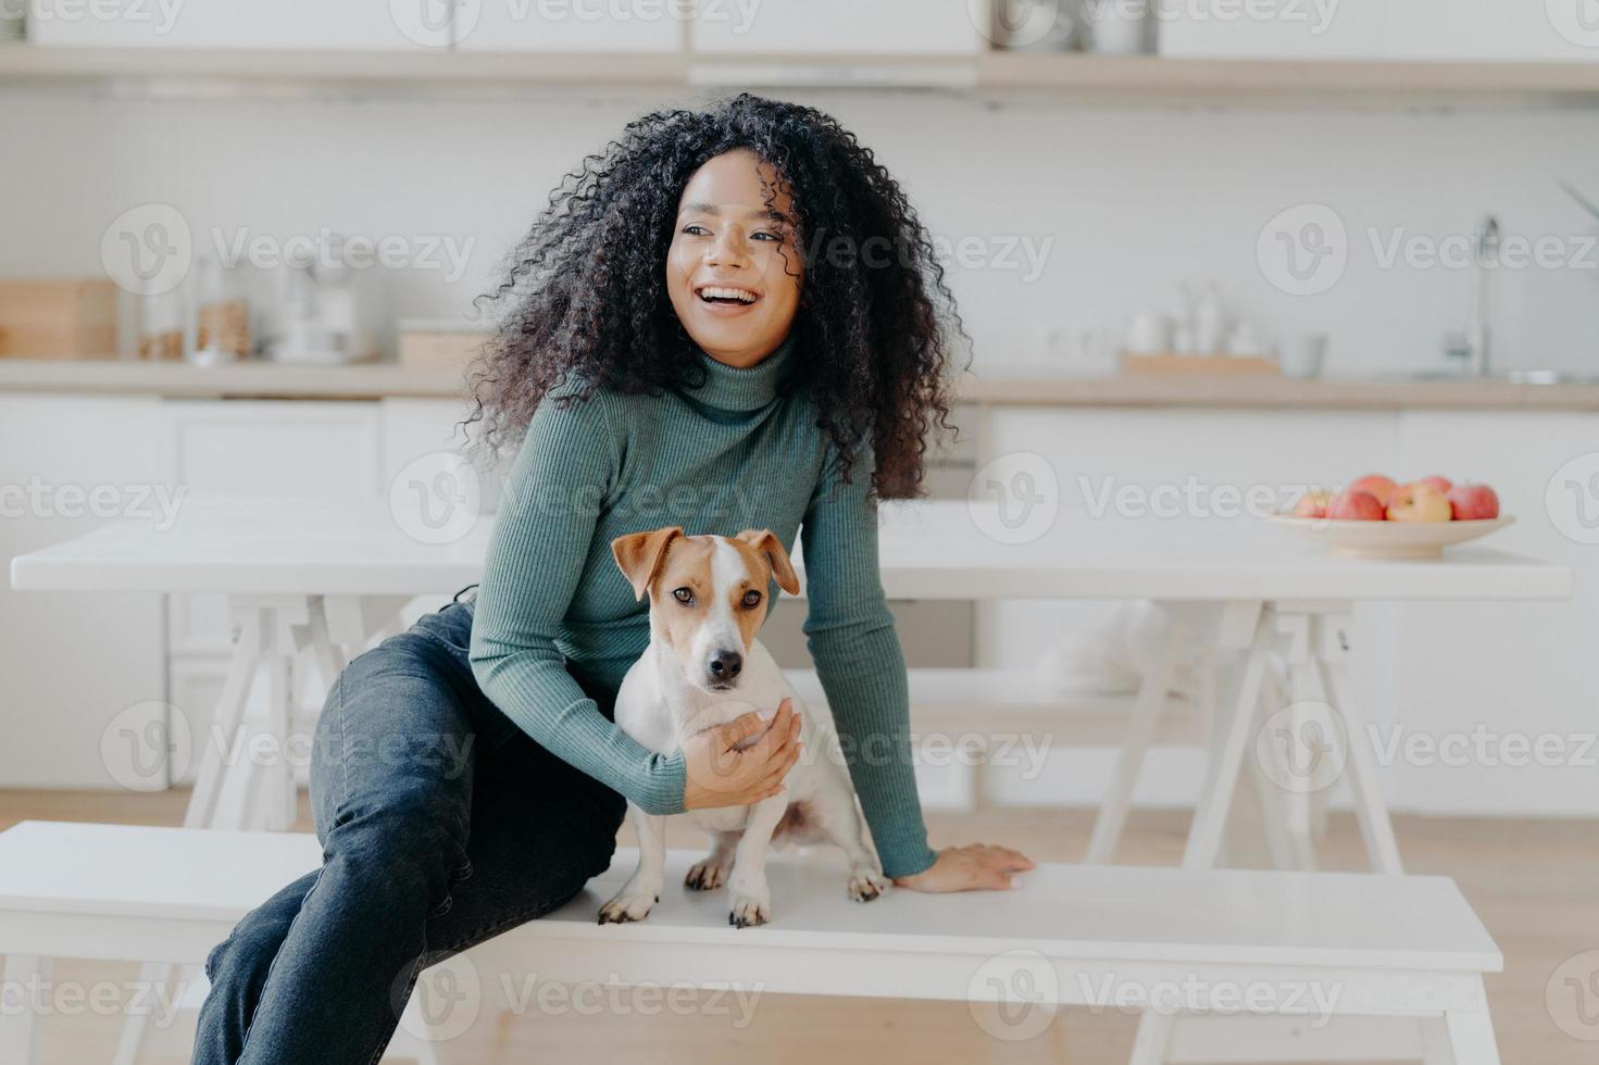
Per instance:
[[[462,51],[675,54],[692,18],[689,0],[472,0],[456,11]]]

